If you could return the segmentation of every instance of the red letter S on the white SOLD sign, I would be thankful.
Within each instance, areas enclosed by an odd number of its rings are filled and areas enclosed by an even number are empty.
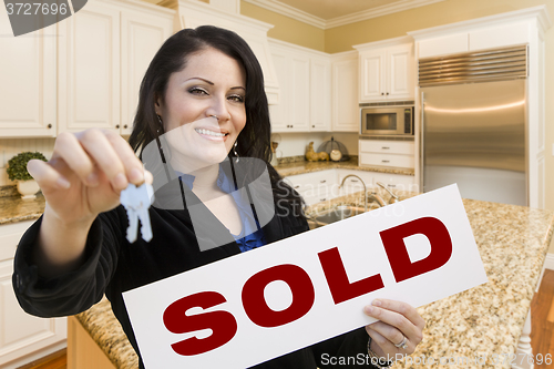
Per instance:
[[[186,315],[193,307],[207,309],[225,303],[222,294],[215,291],[204,291],[183,297],[164,311],[164,325],[173,334],[185,334],[201,329],[212,329],[209,337],[198,339],[191,337],[179,342],[173,344],[173,350],[183,356],[193,356],[216,349],[235,337],[237,332],[237,321],[228,311],[209,311],[196,315]]]

